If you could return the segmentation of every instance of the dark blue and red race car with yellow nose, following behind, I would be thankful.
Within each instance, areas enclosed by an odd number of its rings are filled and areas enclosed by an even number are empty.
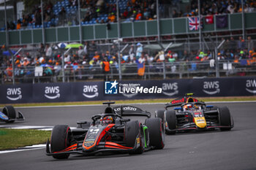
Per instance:
[[[230,131],[233,128],[233,117],[227,107],[206,105],[187,93],[166,104],[165,109],[157,110],[155,117],[165,122],[165,133],[176,134],[178,131],[205,131],[220,129]],[[168,109],[173,108],[174,109]]]

